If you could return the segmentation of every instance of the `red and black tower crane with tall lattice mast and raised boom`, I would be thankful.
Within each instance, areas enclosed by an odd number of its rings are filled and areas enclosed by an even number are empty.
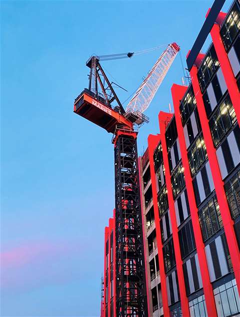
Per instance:
[[[74,101],[74,112],[113,134],[115,173],[116,316],[147,317],[144,248],[137,161],[137,127],[149,122],[147,109],[179,46],[168,44],[124,110],[99,61],[131,58],[146,51],[91,56],[88,89]]]

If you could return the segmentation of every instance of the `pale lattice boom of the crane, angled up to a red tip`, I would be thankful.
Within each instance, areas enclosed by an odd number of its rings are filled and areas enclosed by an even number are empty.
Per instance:
[[[143,112],[148,108],[179,49],[176,43],[168,45],[126,106],[126,112]]]

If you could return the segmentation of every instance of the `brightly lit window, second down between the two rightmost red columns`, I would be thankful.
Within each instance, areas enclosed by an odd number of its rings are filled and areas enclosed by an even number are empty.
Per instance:
[[[209,127],[215,147],[227,131],[233,126],[235,121],[236,114],[230,97],[227,96],[209,120]]]

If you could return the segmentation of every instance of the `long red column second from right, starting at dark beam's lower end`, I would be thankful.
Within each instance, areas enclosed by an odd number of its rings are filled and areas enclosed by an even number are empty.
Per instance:
[[[238,246],[236,241],[236,236],[233,228],[233,221],[230,216],[230,211],[228,208],[224,183],[221,179],[221,173],[216,157],[216,149],[214,148],[211,132],[208,125],[208,120],[205,112],[205,107],[202,99],[202,94],[197,78],[197,68],[196,66],[192,66],[190,70],[190,76],[192,81],[192,87],[194,91],[194,95],[196,98],[196,105],[199,113],[199,118],[201,122],[202,134],[204,138],[204,142],[206,145],[206,151],[208,156],[208,161],[211,169],[211,174],[213,178],[213,183],[215,186],[215,192],[217,201],[219,204],[220,214],[222,218],[222,223],[226,235],[226,241],[231,257],[231,262],[233,266],[233,271],[238,287],[238,292],[240,292],[240,254],[238,252]],[[240,99],[239,99],[240,100]],[[239,105],[238,105],[239,107]]]

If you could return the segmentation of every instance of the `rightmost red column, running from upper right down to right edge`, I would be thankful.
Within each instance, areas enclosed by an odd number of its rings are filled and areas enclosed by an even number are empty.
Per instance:
[[[221,39],[220,26],[215,23],[210,31],[210,34],[218,61],[221,66],[222,74],[226,82],[227,90],[231,98],[232,106],[236,113],[236,118],[238,124],[240,124],[240,92],[237,87],[236,79],[234,77],[224,44]]]

